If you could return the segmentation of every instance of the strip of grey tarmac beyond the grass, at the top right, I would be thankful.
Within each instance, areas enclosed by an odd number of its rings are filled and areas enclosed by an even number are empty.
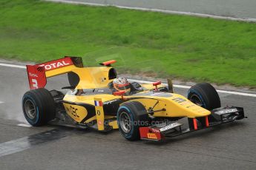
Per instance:
[[[188,16],[203,16],[237,21],[256,21],[254,0],[45,0],[93,6],[114,6],[134,10],[151,10]]]

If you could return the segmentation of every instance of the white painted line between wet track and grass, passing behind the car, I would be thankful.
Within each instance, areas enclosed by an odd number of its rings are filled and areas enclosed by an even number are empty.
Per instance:
[[[14,64],[0,63],[0,66],[26,69],[26,67],[24,67],[24,66],[14,65]],[[152,83],[152,81],[140,81],[140,80],[136,80],[136,79],[129,79],[129,80],[137,81],[138,83],[141,83],[141,84],[151,84]],[[167,85],[167,84],[165,84],[165,85]],[[181,89],[189,89],[191,86],[183,86],[183,85],[174,84],[174,87],[181,88]],[[250,96],[250,97],[256,98],[256,94],[246,93],[246,92],[233,92],[233,91],[226,91],[226,90],[220,90],[220,89],[217,89],[217,92],[222,92],[222,93],[227,93],[227,94],[232,94],[232,95],[244,95],[244,96]]]

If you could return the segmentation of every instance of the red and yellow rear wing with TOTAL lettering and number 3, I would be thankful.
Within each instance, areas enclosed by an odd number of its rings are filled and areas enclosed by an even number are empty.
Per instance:
[[[47,84],[47,78],[71,72],[77,67],[83,67],[80,57],[65,57],[42,64],[27,65],[30,89],[44,88]]]

